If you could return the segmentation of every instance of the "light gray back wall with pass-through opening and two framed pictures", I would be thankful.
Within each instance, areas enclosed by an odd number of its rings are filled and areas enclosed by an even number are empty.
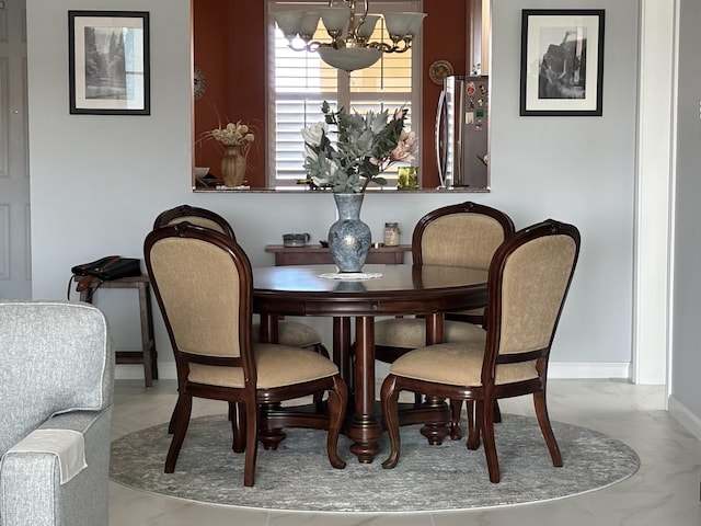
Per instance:
[[[632,332],[637,0],[577,3],[606,9],[602,117],[519,117],[520,10],[558,3],[572,7],[565,0],[494,1],[492,192],[368,195],[363,218],[376,239],[384,221],[399,221],[402,242],[410,241],[422,215],[468,198],[506,210],[517,227],[548,217],[574,222],[582,231],[582,256],[553,361],[586,376],[625,376]],[[33,296],[65,297],[76,263],[107,253],[140,256],[156,215],[182,203],[231,220],[254,265],[272,264],[264,245],[279,242],[285,231],[323,239],[334,220],[329,196],[191,192],[189,0],[119,5],[151,13],[150,116],[68,114],[67,11],[114,8],[106,0],[27,0]],[[126,294],[105,290],[101,302],[110,309],[130,301]],[[118,342],[138,345],[136,313],[129,316],[119,310],[111,322]],[[160,363],[166,368],[172,356],[158,318]],[[315,323],[327,330],[324,320]]]

